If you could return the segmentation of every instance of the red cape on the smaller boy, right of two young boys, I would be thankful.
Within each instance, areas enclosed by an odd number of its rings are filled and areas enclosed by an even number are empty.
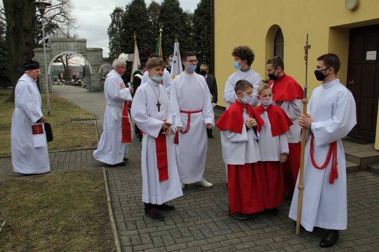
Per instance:
[[[290,126],[294,124],[287,116],[286,112],[275,105],[270,105],[266,109],[264,109],[262,105],[259,105],[254,109],[254,111],[259,114],[262,114],[265,110],[267,111],[268,120],[271,124],[271,133],[273,137],[289,131]]]

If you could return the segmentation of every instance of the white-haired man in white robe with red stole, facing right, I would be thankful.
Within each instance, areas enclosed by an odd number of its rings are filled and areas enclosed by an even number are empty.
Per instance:
[[[128,106],[132,100],[133,88],[126,87],[121,76],[126,70],[127,56],[121,54],[113,61],[113,70],[107,74],[104,94],[107,108],[104,114],[103,134],[93,158],[111,166],[125,166],[124,154],[127,154],[133,139]]]

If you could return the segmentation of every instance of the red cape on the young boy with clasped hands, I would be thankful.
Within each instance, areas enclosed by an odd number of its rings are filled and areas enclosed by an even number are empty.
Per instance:
[[[262,130],[261,126],[264,124],[264,121],[260,115],[254,111],[253,107],[248,105],[243,105],[238,102],[238,100],[233,103],[221,117],[217,120],[216,126],[219,130],[231,130],[235,133],[242,133],[242,128],[245,124],[244,120],[244,109],[249,113],[250,117],[254,118],[257,121],[257,130],[258,132]]]

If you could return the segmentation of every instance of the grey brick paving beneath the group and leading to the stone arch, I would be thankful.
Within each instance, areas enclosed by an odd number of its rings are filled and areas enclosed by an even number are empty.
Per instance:
[[[54,93],[93,113],[102,132],[105,98],[102,92],[78,87],[55,86]],[[54,111],[52,111],[54,113]],[[215,112],[219,114],[220,112]],[[204,177],[214,187],[187,185],[184,196],[170,204],[171,213],[162,213],[164,222],[144,216],[141,202],[139,141],[133,141],[126,167],[106,166],[112,207],[123,251],[294,251],[326,250],[318,246],[324,230],[301,230],[295,235],[294,222],[288,218],[290,205],[282,204],[278,216],[263,213],[257,218],[238,221],[227,216],[228,194],[225,165],[217,130],[208,141]],[[104,164],[91,157],[92,150],[50,154],[52,171],[97,168]],[[16,177],[10,158],[0,159],[0,178]],[[348,229],[331,250],[368,251],[379,249],[379,175],[350,173],[348,178]],[[330,249],[329,249],[330,250]]]

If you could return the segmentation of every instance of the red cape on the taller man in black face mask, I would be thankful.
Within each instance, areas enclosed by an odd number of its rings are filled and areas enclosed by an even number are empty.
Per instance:
[[[286,73],[276,80],[271,80],[268,82],[270,86],[272,83],[274,83],[272,86],[272,93],[274,94],[272,100],[274,102],[304,98],[303,88],[299,85],[299,83],[296,82],[294,78],[286,75]]]

